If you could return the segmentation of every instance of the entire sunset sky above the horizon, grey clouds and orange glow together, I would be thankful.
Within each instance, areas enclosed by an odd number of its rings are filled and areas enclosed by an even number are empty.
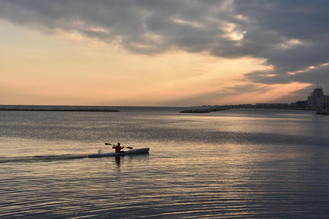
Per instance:
[[[328,1],[0,0],[0,104],[194,106],[329,94]]]

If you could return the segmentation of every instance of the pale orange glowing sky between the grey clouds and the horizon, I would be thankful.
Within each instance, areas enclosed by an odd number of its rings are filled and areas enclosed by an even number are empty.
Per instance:
[[[196,28],[199,25],[179,19],[174,22]],[[59,29],[44,34],[5,21],[0,26],[0,104],[254,104],[297,101],[299,97],[291,92],[312,85],[266,85],[243,80],[246,73],[273,70],[263,58],[221,58],[179,49],[145,55],[127,51],[115,41],[105,43],[76,32]],[[92,31],[106,32],[98,27]],[[239,34],[234,40],[242,38]],[[267,75],[271,76],[275,74]],[[252,86],[254,89],[250,89]]]

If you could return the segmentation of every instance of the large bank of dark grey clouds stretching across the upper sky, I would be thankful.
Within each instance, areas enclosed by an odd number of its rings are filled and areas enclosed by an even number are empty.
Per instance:
[[[329,2],[320,0],[0,0],[0,19],[44,33],[79,32],[135,53],[177,49],[264,58],[273,71],[245,75],[264,84],[325,80],[324,68],[288,72],[329,61],[328,11]]]

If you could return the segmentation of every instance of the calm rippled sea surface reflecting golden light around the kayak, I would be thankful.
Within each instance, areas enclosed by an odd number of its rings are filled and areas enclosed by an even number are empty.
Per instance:
[[[0,111],[1,218],[328,218],[329,116],[107,108]]]

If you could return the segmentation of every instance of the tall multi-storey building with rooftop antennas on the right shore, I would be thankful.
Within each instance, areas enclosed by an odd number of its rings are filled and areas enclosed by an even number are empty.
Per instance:
[[[328,109],[327,100],[328,95],[323,95],[321,86],[317,86],[307,97],[307,109]]]

